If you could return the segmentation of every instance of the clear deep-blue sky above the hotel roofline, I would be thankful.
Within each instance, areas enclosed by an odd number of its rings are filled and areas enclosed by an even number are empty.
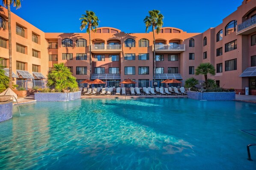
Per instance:
[[[43,32],[81,32],[79,18],[91,10],[98,16],[100,27],[143,33],[143,19],[149,10],[157,9],[164,15],[163,26],[198,33],[222,23],[241,3],[242,0],[23,0],[20,9],[12,7],[11,11]]]

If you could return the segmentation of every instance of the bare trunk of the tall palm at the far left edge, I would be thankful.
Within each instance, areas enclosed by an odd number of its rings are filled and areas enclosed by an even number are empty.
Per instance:
[[[12,89],[12,29],[10,0],[7,1],[8,9],[8,32],[9,32],[9,88]]]

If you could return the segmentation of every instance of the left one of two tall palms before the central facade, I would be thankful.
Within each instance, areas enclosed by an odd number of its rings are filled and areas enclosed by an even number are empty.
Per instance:
[[[85,11],[85,13],[86,14],[82,14],[82,17],[80,18],[80,20],[82,20],[80,30],[82,31],[87,26],[86,32],[89,33],[90,78],[91,78],[92,76],[91,30],[94,29],[94,31],[96,31],[99,20],[98,20],[98,17],[95,15],[95,13],[92,11]]]

